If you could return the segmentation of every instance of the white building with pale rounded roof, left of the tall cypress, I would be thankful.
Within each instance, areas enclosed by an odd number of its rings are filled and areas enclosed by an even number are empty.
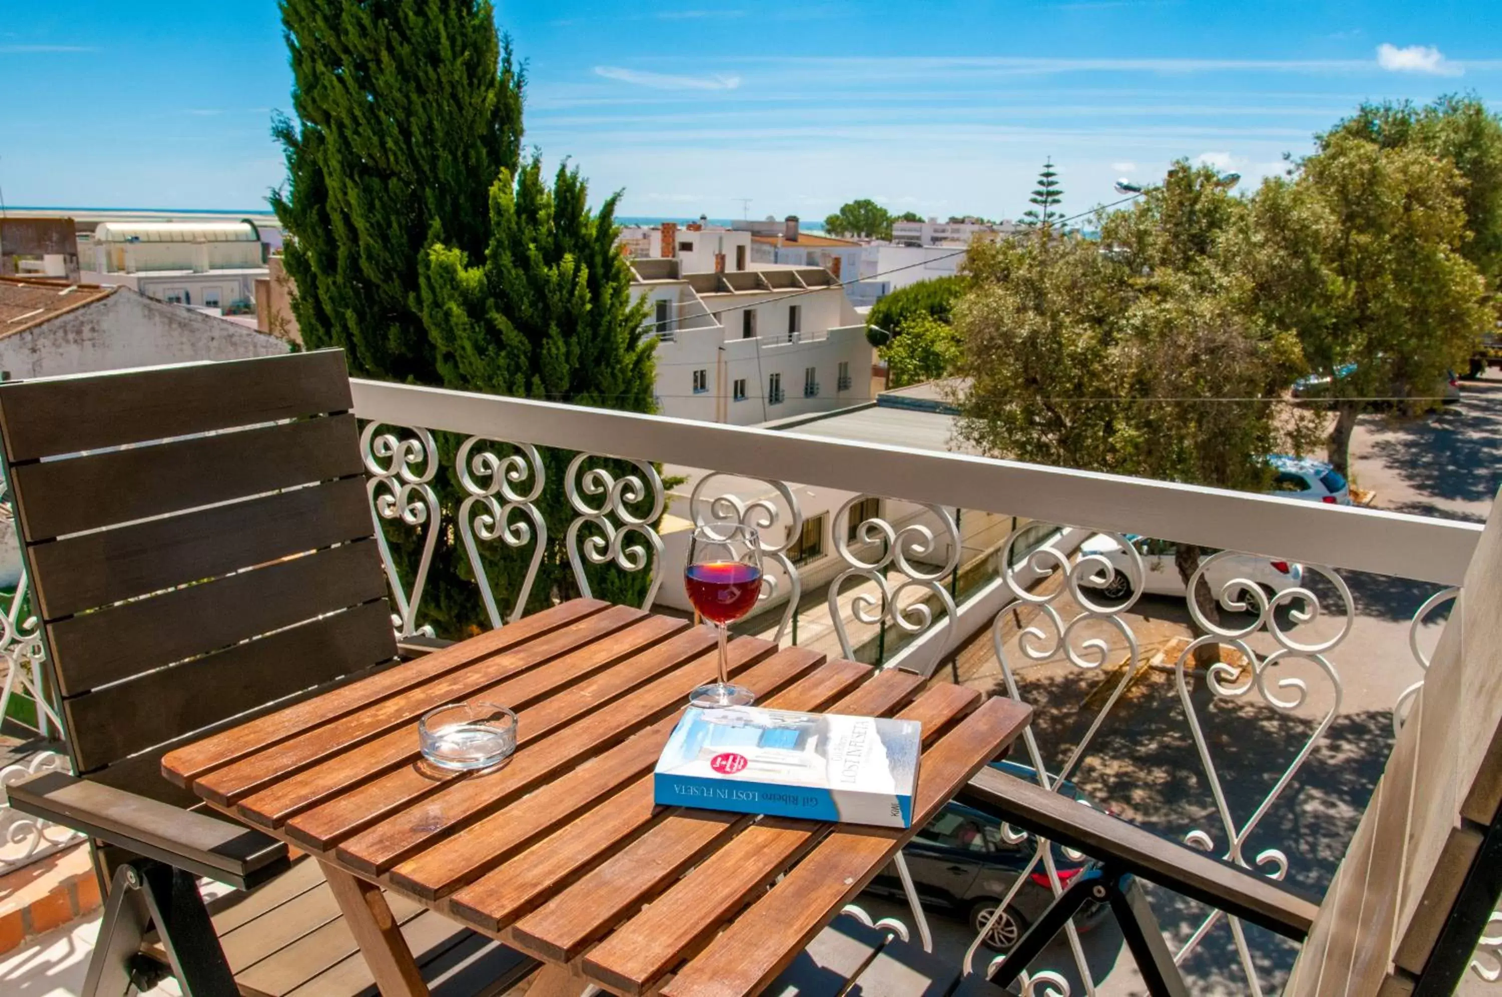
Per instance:
[[[104,222],[83,281],[129,287],[173,305],[251,314],[266,255],[254,222]],[[80,249],[80,252],[84,252]]]

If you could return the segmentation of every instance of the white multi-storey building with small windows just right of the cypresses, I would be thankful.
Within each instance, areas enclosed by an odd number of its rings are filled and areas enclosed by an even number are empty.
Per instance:
[[[756,425],[870,401],[876,351],[819,267],[686,273],[632,260],[656,336],[662,414]]]

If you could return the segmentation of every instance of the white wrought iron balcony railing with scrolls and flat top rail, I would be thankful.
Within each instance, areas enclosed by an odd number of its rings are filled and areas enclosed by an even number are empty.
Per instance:
[[[1316,781],[1328,782],[1332,767],[1355,764],[1350,757],[1364,751],[1373,755],[1364,761],[1374,763],[1374,770],[1364,787],[1347,787],[1349,799],[1340,800],[1359,814],[1388,751],[1383,737],[1401,724],[1422,682],[1425,643],[1433,640],[1430,626],[1452,601],[1452,586],[1461,581],[1481,533],[1479,526],[1460,521],[376,381],[354,381],[354,407],[368,423],[366,462],[377,517],[425,530],[428,538],[455,526],[439,521],[442,503],[431,497],[439,470],[433,432],[458,434],[463,440],[455,471],[466,497],[458,506],[457,527],[479,581],[476,598],[493,625],[520,614],[536,572],[533,568],[526,575],[520,592],[488,592],[476,544],[499,539],[526,548],[545,538],[548,526],[536,505],[545,486],[539,447],[574,453],[563,485],[572,517],[565,527],[568,563],[577,587],[589,592],[586,563],[647,572],[646,605],[652,604],[665,572],[677,568],[662,563],[667,554],[656,524],[664,509],[664,486],[655,464],[709,471],[689,497],[686,518],[763,529],[765,553],[777,566],[765,583],[763,598],[789,596],[778,640],[787,638],[789,619],[802,595],[801,569],[787,556],[804,524],[799,489],[852,492],[831,524],[843,571],[829,584],[828,608],[841,650],[853,653],[847,632],[853,622],[891,628],[916,640],[888,664],[924,673],[957,650],[955,622],[978,599],[957,604],[952,586],[946,584],[960,551],[952,511],[1053,523],[1071,527],[1075,538],[1092,532],[1107,535],[1119,545],[1125,563],[1089,551],[1075,557],[1059,545],[1035,548],[1029,541],[1038,536],[1036,524],[1015,530],[999,559],[1000,577],[984,590],[985,611],[994,616],[993,655],[1000,694],[1036,706],[1041,674],[1036,665],[1044,662],[1054,664],[1054,679],[1071,673],[1102,676],[1069,715],[1072,733],[1045,740],[1029,730],[1020,760],[1045,788],[1062,791],[1081,781],[1090,766],[1102,763],[1116,770],[1161,769],[1160,760],[1134,758],[1131,752],[1178,742],[1182,770],[1172,778],[1193,782],[1202,803],[1197,809],[1179,806],[1178,811],[1194,812],[1176,812],[1178,826],[1161,826],[1160,833],[1181,836],[1193,847],[1272,878],[1292,874],[1299,884],[1316,889],[1328,883],[1346,848],[1338,835],[1349,836],[1355,821],[1344,832],[1332,830],[1328,839],[1269,841],[1269,815],[1289,806],[1290,791],[1305,785],[1316,767],[1323,769]],[[607,465],[607,458],[616,462]],[[721,476],[756,482],[756,494],[762,497],[706,488]],[[859,503],[868,497],[913,503],[928,515],[922,523],[901,527],[870,517],[852,532],[849,520],[855,509],[865,508]],[[783,527],[781,535],[777,527]],[[849,539],[852,535],[855,542]],[[1149,653],[1152,649],[1137,632],[1146,625],[1134,610],[1148,587],[1148,568],[1130,541],[1134,535],[1218,551],[1202,560],[1185,599],[1199,635],[1172,646],[1172,653],[1161,646]],[[1247,572],[1238,560],[1241,554],[1296,563],[1301,574],[1293,584],[1269,592],[1242,577]],[[422,626],[422,587],[430,566],[431,560],[424,557],[415,577],[403,578],[388,556],[398,629],[404,634]],[[1371,659],[1370,646],[1350,659],[1341,655],[1362,614],[1349,584],[1349,578],[1358,577],[1397,580],[1394,584],[1421,593],[1416,596],[1421,605],[1407,623],[1407,640],[1388,641],[1386,650],[1395,653],[1380,661]],[[1218,619],[1193,598],[1212,583],[1209,596],[1220,605]],[[846,602],[846,613],[840,596],[852,584],[859,589]],[[1391,607],[1386,611],[1391,616]],[[1199,664],[1200,658],[1206,664]],[[1373,734],[1368,725],[1361,745],[1334,740],[1347,737],[1344,731],[1332,733],[1347,718],[1341,665],[1388,670],[1383,683],[1401,688],[1382,707],[1385,733]],[[1155,677],[1161,688],[1154,689],[1154,682],[1145,677]],[[1370,685],[1367,679],[1362,673],[1364,685]],[[1133,745],[1133,739],[1114,736],[1110,749],[1119,754],[1105,758],[1104,742],[1120,722],[1123,704],[1154,694],[1172,730],[1157,731],[1154,745]],[[1244,733],[1266,743],[1229,742],[1223,722],[1227,710],[1253,712],[1256,719]],[[1361,784],[1367,776],[1346,772],[1335,778]],[[994,898],[999,902],[966,955],[967,971],[984,968],[978,961],[981,940],[1008,916],[1017,892],[1033,881],[1030,874],[1041,866],[1053,895],[1063,887],[1048,842],[1029,844],[1026,835],[1006,827],[1002,832],[1011,845],[1029,850],[1030,859],[1015,875],[1011,892]],[[1292,961],[1287,952],[1269,950],[1277,940],[1257,937],[1218,910],[1179,913],[1179,923],[1187,926],[1175,938],[1178,959],[1193,968],[1191,959],[1218,947],[1224,958],[1214,971],[1235,967],[1241,977],[1233,986],[1265,992]],[[928,944],[921,916],[918,926]],[[1098,980],[1074,923],[1066,935],[1072,965],[1033,974],[1029,992],[1095,992]],[[1218,938],[1214,946],[1212,938]],[[1478,949],[1475,970],[1485,977],[1494,976],[1494,967],[1496,943],[1488,935]]]

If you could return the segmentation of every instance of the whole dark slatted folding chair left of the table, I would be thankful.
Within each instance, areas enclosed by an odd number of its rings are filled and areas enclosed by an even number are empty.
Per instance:
[[[374,994],[312,862],[159,772],[224,725],[397,665],[338,350],[0,384],[17,521],[77,775],[11,805],[95,839],[84,994]],[[234,887],[204,905],[197,878]],[[392,898],[430,983],[533,962]],[[155,926],[155,931],[152,929]],[[231,979],[233,977],[233,979]]]

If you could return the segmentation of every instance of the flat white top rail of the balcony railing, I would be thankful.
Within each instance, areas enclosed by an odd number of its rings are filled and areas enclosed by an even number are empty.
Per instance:
[[[354,380],[360,419],[1460,584],[1481,527],[1059,467]]]

